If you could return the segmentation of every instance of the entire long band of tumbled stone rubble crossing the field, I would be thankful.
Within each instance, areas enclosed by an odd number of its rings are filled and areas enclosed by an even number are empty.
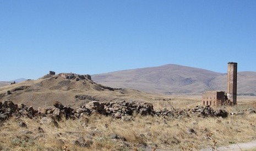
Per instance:
[[[73,109],[63,106],[60,102],[53,103],[54,108],[34,109],[33,107],[25,106],[24,104],[14,104],[12,101],[0,102],[0,121],[7,120],[9,117],[25,117],[25,118],[43,118],[49,117],[54,120],[76,119],[84,115],[91,115],[94,113],[111,116],[116,119],[126,119],[131,117],[134,113],[141,115],[152,115],[171,118],[182,118],[197,115],[198,117],[222,117],[226,118],[229,113],[224,109],[214,110],[210,106],[196,106],[195,108],[180,109],[163,108],[159,111],[154,111],[151,103],[138,103],[138,102],[99,102],[90,101],[85,106],[80,106]],[[242,115],[255,113],[253,109],[246,111],[239,111],[237,113],[230,113],[230,115]],[[129,118],[128,118],[129,119]]]

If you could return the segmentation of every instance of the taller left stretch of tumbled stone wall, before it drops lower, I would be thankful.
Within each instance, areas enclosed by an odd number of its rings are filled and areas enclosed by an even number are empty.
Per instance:
[[[12,116],[25,118],[51,117],[54,120],[61,120],[62,118],[75,119],[83,115],[91,115],[94,113],[112,116],[117,119],[123,116],[133,115],[134,112],[141,115],[154,115],[154,109],[151,103],[91,101],[85,106],[73,109],[55,101],[53,106],[55,108],[39,107],[36,110],[24,104],[14,104],[12,101],[0,102],[0,121],[4,121]]]

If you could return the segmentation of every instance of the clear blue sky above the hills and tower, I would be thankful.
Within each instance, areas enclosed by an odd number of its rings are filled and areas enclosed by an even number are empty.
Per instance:
[[[0,80],[169,63],[256,71],[256,1],[0,0]]]

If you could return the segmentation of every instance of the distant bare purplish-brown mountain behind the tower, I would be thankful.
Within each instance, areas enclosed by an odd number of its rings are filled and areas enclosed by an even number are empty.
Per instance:
[[[180,65],[164,65],[92,75],[96,83],[161,94],[201,94],[227,89],[227,74]],[[256,72],[238,72],[238,93],[256,94]]]

